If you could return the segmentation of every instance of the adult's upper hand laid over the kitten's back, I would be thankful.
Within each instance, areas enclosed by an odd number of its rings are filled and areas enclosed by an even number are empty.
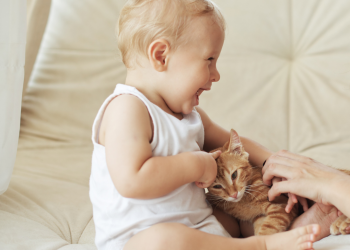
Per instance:
[[[274,183],[268,194],[270,200],[274,200],[281,193],[293,193],[325,205],[330,205],[330,180],[343,174],[311,158],[286,150],[270,156],[262,171],[263,181],[267,185],[271,185],[274,177],[285,179]]]

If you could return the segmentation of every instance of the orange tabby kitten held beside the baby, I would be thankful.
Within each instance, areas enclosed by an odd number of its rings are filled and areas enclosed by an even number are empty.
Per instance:
[[[227,214],[253,223],[255,235],[270,235],[288,230],[298,216],[297,204],[290,213],[285,211],[288,198],[268,200],[269,187],[262,181],[262,168],[252,167],[237,132],[231,129],[230,140],[221,148],[216,159],[217,176],[208,187],[207,200]],[[350,174],[350,171],[343,171]],[[331,234],[346,234],[350,219],[341,215],[333,222]]]

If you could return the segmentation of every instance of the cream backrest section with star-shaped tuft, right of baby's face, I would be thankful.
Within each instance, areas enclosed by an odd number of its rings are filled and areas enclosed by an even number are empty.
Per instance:
[[[204,110],[273,151],[350,169],[350,1],[215,2],[227,37]]]

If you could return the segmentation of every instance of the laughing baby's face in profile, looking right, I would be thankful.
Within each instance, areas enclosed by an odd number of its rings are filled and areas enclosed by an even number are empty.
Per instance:
[[[225,34],[211,17],[203,16],[184,35],[189,42],[170,54],[163,97],[173,112],[189,114],[202,92],[220,79],[216,63]]]

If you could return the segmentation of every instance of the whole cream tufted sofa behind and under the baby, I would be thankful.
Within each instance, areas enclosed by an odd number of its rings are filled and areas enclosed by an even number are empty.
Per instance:
[[[96,249],[91,126],[125,79],[114,35],[124,2],[29,2],[20,138],[0,196],[0,249]],[[350,170],[350,1],[215,2],[227,37],[221,80],[201,96],[201,107],[273,151]],[[350,236],[315,245],[350,249]]]

